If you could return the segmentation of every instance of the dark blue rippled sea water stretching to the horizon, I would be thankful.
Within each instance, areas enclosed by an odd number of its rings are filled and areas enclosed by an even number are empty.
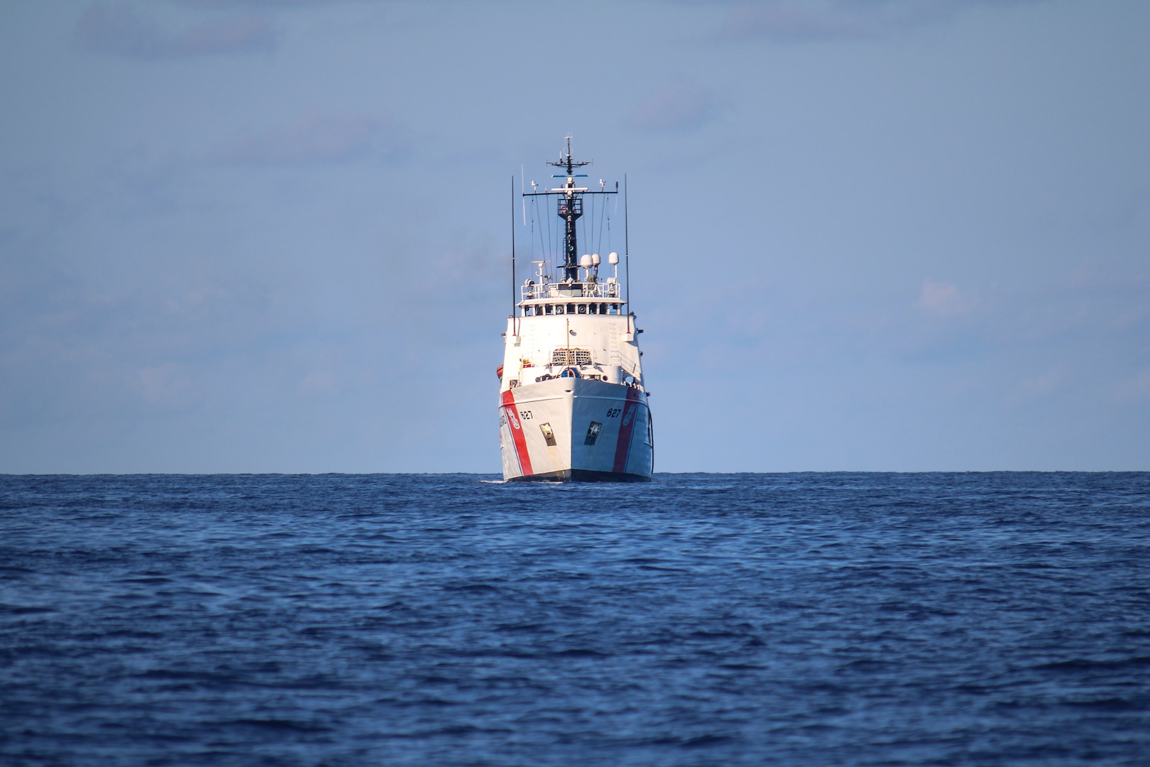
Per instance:
[[[1150,474],[484,478],[0,477],[0,764],[1150,764]]]

